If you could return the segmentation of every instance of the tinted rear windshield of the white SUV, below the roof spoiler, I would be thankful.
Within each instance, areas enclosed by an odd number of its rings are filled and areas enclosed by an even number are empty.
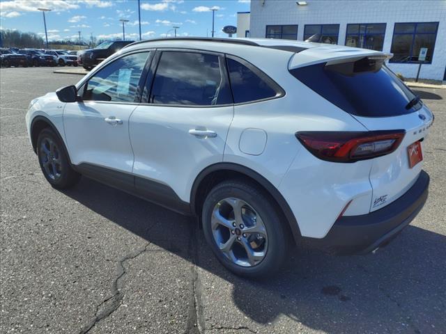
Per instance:
[[[415,94],[385,65],[368,71],[357,66],[357,63],[351,64],[351,68],[354,68],[351,72],[345,71],[344,65],[325,66],[325,63],[290,72],[325,100],[352,115],[399,116],[421,108],[421,102],[410,106],[409,102],[416,98]]]

